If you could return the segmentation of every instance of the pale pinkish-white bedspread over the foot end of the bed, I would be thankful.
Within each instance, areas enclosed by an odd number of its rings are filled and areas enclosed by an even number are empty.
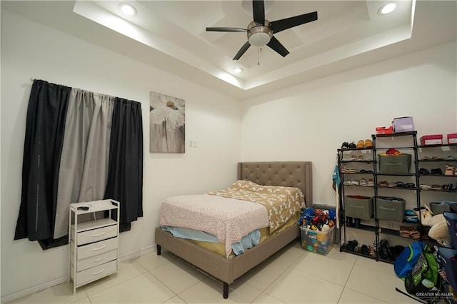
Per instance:
[[[173,196],[161,206],[160,224],[203,230],[216,235],[231,252],[231,244],[239,242],[252,230],[268,226],[264,206],[209,194]]]

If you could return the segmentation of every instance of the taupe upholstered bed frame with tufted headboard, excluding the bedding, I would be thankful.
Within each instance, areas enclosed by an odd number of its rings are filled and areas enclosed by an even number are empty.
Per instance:
[[[310,161],[238,163],[238,180],[265,186],[296,187],[303,192],[307,206],[312,201],[312,167]],[[241,255],[226,258],[201,247],[191,240],[176,238],[168,231],[156,228],[157,255],[161,248],[178,255],[205,273],[222,281],[223,297],[229,297],[229,285],[270,255],[300,236],[298,225],[283,229]]]

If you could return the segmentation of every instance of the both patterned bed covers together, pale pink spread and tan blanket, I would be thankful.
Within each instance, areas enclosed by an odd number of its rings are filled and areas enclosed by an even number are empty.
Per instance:
[[[231,244],[263,227],[273,233],[300,210],[303,201],[298,188],[236,181],[221,191],[166,198],[161,206],[160,225],[216,235],[229,256]]]

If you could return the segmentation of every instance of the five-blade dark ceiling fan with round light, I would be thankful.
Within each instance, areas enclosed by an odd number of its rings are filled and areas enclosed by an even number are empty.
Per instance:
[[[233,60],[238,60],[249,49],[249,46],[269,46],[273,51],[276,51],[281,56],[285,57],[289,51],[276,39],[273,34],[276,34],[285,29],[291,29],[294,26],[306,24],[317,20],[317,11],[293,16],[286,19],[268,21],[265,19],[265,4],[263,0],[252,1],[253,21],[248,24],[247,29],[236,27],[207,27],[206,31],[242,31],[247,32],[248,41],[241,46],[241,49],[236,53]]]

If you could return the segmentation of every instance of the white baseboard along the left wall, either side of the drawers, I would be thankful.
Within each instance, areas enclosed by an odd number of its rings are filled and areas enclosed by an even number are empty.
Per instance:
[[[153,253],[156,251],[156,246],[151,246],[149,248],[136,251],[135,253],[129,253],[128,255],[124,255],[119,257],[119,263],[126,262],[127,260],[133,260],[134,258],[139,258],[141,255],[146,255],[148,253]],[[51,288],[52,286],[59,285],[61,283],[65,283],[67,281],[67,275],[63,275],[59,278],[52,278],[49,280],[44,280],[41,283],[38,283],[34,286],[26,288],[24,290],[20,290],[16,293],[10,293],[9,295],[4,295],[0,299],[0,303],[6,303],[12,300],[16,300],[26,295],[31,295],[32,293],[36,293],[41,290],[45,290],[46,288]]]

